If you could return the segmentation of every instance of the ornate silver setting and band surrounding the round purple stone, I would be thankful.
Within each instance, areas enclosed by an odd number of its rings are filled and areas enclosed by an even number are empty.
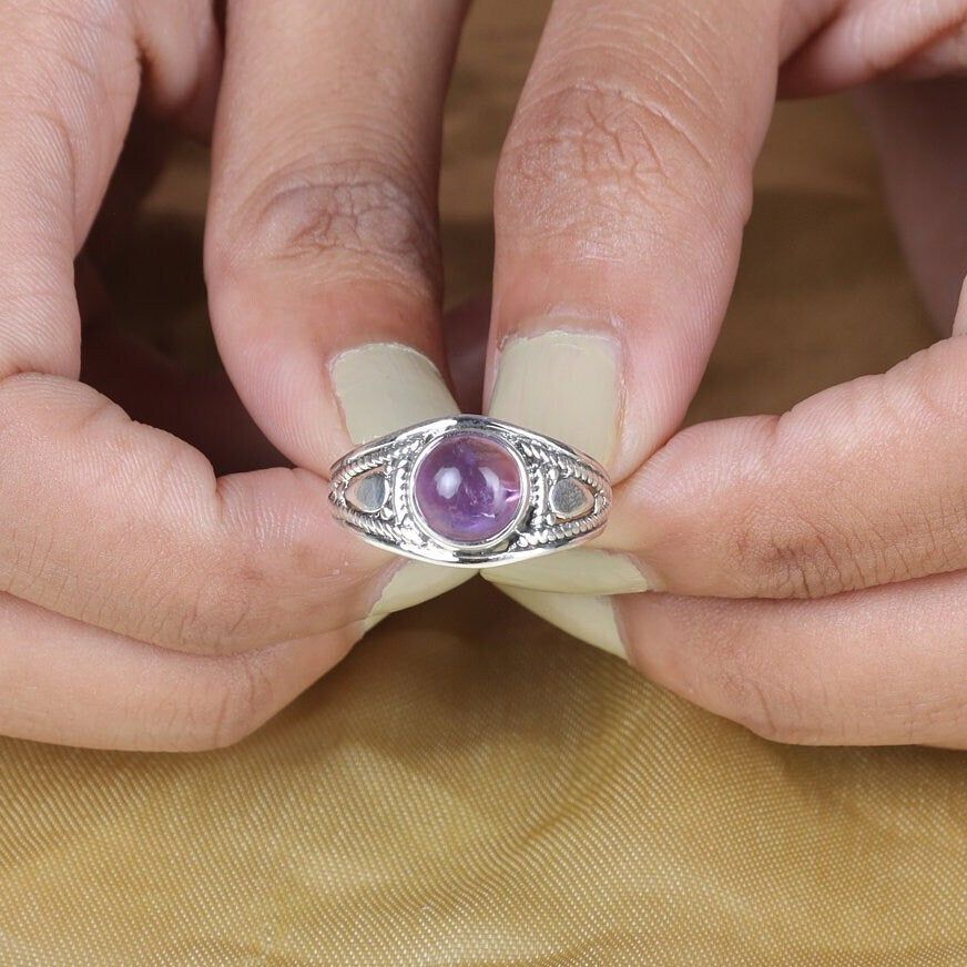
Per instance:
[[[521,498],[511,523],[487,541],[457,543],[424,519],[414,493],[423,459],[445,437],[477,434],[500,444],[521,476]],[[378,508],[360,509],[349,499],[354,481],[370,474],[386,478]],[[589,495],[584,512],[563,517],[551,506],[554,484],[572,478]],[[484,416],[454,416],[417,424],[358,447],[333,465],[329,500],[336,519],[369,543],[416,560],[454,567],[488,568],[582,543],[603,530],[611,508],[604,468],[571,447],[522,427]]]

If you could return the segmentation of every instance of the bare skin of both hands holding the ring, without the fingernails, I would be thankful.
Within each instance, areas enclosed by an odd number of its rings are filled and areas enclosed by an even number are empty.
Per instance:
[[[388,340],[445,368],[435,195],[466,4],[226,6],[223,34],[202,0],[0,0],[3,734],[235,742],[346,654],[394,564],[329,519],[350,441],[327,363]],[[965,35],[964,0],[557,0],[501,157],[485,386],[529,320],[619,339],[609,535],[662,592],[617,599],[629,655],[773,739],[967,745],[961,340],[675,435],[777,93],[862,86],[928,304],[967,328]],[[98,326],[98,251],[164,125],[213,143],[222,383]]]

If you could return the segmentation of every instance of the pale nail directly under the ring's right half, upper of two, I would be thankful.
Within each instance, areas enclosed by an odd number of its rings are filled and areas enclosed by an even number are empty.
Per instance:
[[[487,568],[480,573],[495,584],[564,594],[634,594],[649,590],[648,580],[631,558],[590,548]]]

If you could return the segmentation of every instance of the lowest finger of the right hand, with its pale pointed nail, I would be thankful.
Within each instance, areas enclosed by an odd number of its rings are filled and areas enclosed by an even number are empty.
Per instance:
[[[823,601],[502,590],[765,739],[967,747],[964,573]]]

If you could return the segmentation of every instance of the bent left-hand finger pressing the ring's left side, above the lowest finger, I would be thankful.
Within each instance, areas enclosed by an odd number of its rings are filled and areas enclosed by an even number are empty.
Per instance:
[[[328,486],[216,478],[197,450],[82,384],[0,384],[0,588],[170,648],[227,653],[363,618],[387,554],[339,528]]]

